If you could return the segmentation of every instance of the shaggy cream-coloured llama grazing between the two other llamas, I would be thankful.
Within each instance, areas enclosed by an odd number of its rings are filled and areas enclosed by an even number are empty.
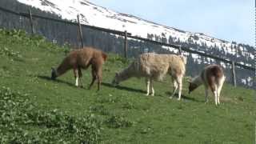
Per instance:
[[[115,74],[113,85],[128,78],[146,78],[146,95],[154,96],[153,80],[162,81],[166,74],[170,74],[174,84],[174,93],[178,88],[178,100],[182,94],[182,78],[185,74],[186,58],[174,54],[141,54],[134,62],[120,73]],[[151,90],[151,92],[150,92]],[[174,94],[170,97],[172,98]]]

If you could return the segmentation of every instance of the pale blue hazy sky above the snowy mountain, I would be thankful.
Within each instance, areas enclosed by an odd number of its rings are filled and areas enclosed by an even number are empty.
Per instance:
[[[255,0],[89,0],[159,24],[254,46]]]

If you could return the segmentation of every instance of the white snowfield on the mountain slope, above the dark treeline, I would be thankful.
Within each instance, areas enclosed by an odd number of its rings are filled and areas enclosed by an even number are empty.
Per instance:
[[[18,0],[18,2],[58,14],[62,18],[71,21],[76,21],[77,14],[80,14],[82,16],[81,22],[86,25],[99,26],[111,30],[127,30],[131,34],[142,38],[147,38],[148,34],[156,34],[167,39],[171,36],[179,39],[180,42],[193,41],[198,44],[206,44],[209,47],[217,46],[219,49],[224,48],[225,54],[235,53],[235,50],[231,50],[231,46],[234,47],[236,44],[202,33],[192,33],[169,26],[162,26],[130,14],[121,14],[102,6],[96,6],[86,0],[70,0],[65,2],[62,0]],[[238,46],[238,49],[242,50],[242,46]],[[253,54],[249,54],[249,56],[254,58]]]

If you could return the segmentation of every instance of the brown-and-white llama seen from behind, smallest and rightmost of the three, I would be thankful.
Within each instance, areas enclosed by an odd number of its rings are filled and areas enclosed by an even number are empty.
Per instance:
[[[220,104],[219,97],[225,79],[226,77],[221,66],[206,66],[201,74],[190,80],[189,94],[203,84],[206,90],[206,102],[208,102],[208,90],[210,89],[214,93],[215,105],[218,105]]]

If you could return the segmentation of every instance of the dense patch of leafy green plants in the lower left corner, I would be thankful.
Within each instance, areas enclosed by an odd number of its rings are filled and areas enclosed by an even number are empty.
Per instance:
[[[0,90],[0,143],[95,143],[102,122],[94,114],[82,118],[59,110],[36,110],[28,94]],[[29,127],[35,130],[29,132]]]

